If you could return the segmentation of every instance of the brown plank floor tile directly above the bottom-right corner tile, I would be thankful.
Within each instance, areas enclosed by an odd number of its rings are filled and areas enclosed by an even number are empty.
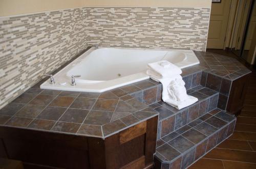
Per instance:
[[[204,158],[256,163],[256,152],[218,149],[211,150]]]

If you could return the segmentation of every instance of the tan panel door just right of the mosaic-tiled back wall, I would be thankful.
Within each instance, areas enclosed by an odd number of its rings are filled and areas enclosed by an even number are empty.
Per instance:
[[[223,49],[231,0],[212,3],[207,38],[208,49]]]

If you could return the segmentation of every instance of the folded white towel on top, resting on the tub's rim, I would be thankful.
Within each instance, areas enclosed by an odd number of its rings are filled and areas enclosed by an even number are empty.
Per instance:
[[[147,70],[147,75],[154,76],[158,79],[172,77],[175,75],[180,75],[182,73],[181,69],[178,66],[166,60],[148,63],[147,65],[149,68]]]

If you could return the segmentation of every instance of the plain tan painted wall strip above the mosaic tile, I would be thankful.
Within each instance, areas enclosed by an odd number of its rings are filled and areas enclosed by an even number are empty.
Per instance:
[[[85,6],[207,7],[211,0],[0,0],[0,16]]]

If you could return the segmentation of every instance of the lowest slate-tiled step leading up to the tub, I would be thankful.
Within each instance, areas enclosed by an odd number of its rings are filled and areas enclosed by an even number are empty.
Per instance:
[[[155,157],[162,163],[172,163],[176,159],[187,155],[190,151],[195,151],[197,147],[202,147],[202,144],[205,144],[204,149],[209,151],[232,134],[235,123],[235,116],[220,109],[214,109],[182,128],[158,139]],[[225,134],[223,134],[223,131],[225,131]],[[214,146],[209,147],[211,144],[209,143],[207,146],[206,143],[212,141],[208,138],[213,136],[217,137],[215,138],[216,142]],[[205,151],[203,154],[205,154]]]

